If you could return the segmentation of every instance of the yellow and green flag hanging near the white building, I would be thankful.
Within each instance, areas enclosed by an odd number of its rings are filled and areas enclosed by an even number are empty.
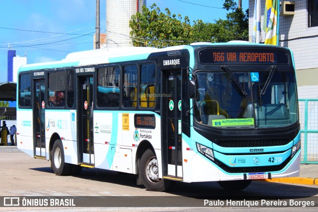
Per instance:
[[[273,0],[273,5],[270,11],[270,17],[266,29],[265,44],[278,45],[277,30],[278,30],[278,0]]]

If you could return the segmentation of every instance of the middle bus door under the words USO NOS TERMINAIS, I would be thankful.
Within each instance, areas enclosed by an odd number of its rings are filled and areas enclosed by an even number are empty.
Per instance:
[[[94,164],[93,140],[93,77],[79,77],[78,89],[78,133],[79,152],[82,156],[80,162]]]

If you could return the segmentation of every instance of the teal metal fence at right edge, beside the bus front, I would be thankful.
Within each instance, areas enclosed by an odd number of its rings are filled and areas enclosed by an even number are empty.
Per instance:
[[[299,100],[301,163],[318,164],[318,99]]]

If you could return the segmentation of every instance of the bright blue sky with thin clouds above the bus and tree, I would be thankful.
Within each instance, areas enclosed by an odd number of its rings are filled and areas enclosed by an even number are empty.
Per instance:
[[[238,0],[235,0],[238,3]],[[248,0],[242,0],[245,11]],[[214,22],[225,19],[224,0],[147,0],[161,11]],[[96,0],[0,0],[0,82],[7,81],[7,50],[27,55],[27,64],[61,60],[71,52],[93,49]],[[101,33],[106,0],[100,0]]]

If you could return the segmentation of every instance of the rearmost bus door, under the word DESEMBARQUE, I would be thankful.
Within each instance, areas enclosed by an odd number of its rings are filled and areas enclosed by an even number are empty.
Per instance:
[[[45,84],[44,79],[34,80],[33,123],[34,156],[45,158]]]

